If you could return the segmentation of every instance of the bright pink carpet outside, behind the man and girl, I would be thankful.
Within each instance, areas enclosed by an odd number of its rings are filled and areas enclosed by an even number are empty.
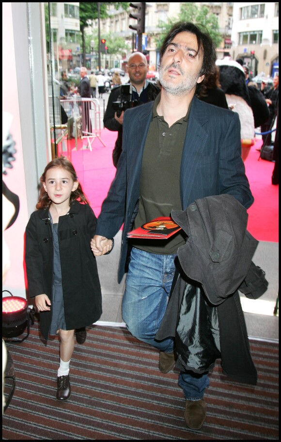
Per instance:
[[[96,216],[116,172],[111,155],[117,132],[102,129],[100,138],[106,147],[96,138],[92,142],[92,152],[89,148],[72,151],[72,162]],[[87,139],[83,143],[86,146]],[[279,242],[279,186],[271,184],[274,163],[258,160],[260,153],[256,148],[260,145],[261,141],[257,140],[245,160],[246,174],[255,199],[248,210],[248,230],[259,241]]]

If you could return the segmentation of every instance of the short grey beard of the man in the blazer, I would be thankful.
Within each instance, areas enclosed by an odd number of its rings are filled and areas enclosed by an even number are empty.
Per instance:
[[[180,74],[183,76],[181,82],[178,84],[173,84],[172,81],[165,80],[163,78],[164,73],[171,67],[179,71]],[[172,95],[181,96],[185,95],[187,92],[192,91],[192,89],[196,87],[197,80],[199,79],[199,77],[200,74],[197,75],[190,75],[188,73],[185,74],[182,68],[176,63],[172,63],[170,64],[170,66],[167,66],[165,68],[163,68],[162,66],[160,66],[159,68],[159,81],[162,87],[165,89],[165,91],[169,92],[169,94]]]

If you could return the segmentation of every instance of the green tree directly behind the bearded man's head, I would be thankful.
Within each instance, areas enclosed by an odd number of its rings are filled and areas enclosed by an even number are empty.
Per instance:
[[[185,2],[181,4],[180,13],[176,17],[168,18],[167,23],[160,23],[159,28],[161,29],[161,33],[156,37],[156,47],[159,50],[162,46],[162,43],[170,31],[172,26],[178,21],[191,21],[192,23],[200,26],[205,26],[207,31],[211,35],[213,42],[216,47],[219,47],[219,44],[222,40],[222,36],[219,32],[219,22],[218,17],[215,14],[210,13],[209,8],[207,6],[198,7],[197,3],[194,2]]]

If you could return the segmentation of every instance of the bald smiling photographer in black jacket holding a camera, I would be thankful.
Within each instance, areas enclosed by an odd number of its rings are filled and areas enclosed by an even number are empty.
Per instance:
[[[117,167],[122,152],[123,116],[126,109],[139,106],[148,101],[154,101],[160,89],[146,79],[148,65],[146,57],[141,52],[134,52],[128,59],[129,83],[112,89],[107,109],[104,114],[104,126],[118,131],[115,147],[112,152],[113,164]],[[128,86],[131,87],[129,88]]]

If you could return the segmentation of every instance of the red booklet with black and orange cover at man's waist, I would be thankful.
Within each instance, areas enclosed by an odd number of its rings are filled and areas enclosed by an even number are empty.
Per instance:
[[[158,217],[127,233],[128,238],[167,239],[181,230],[171,217]]]

